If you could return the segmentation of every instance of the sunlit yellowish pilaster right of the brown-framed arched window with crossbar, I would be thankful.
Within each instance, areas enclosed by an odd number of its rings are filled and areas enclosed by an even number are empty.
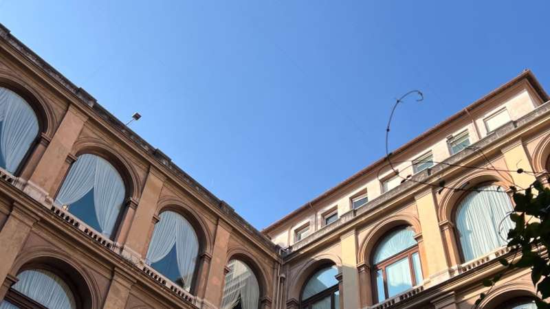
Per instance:
[[[426,190],[415,196],[415,200],[426,255],[426,259],[422,261],[423,268],[427,268],[428,273],[428,278],[424,279],[424,282],[432,281],[433,284],[436,284],[448,279],[447,257],[439,229],[436,202],[432,190]]]

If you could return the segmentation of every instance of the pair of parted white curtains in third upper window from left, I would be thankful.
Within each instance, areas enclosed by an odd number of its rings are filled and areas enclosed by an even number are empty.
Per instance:
[[[148,264],[153,264],[162,260],[175,245],[177,269],[184,282],[184,288],[190,290],[199,254],[197,233],[183,216],[174,211],[164,211],[159,218],[153,230],[146,261]]]

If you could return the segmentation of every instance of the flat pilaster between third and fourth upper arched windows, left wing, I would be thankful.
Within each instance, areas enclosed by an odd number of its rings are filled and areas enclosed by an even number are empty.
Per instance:
[[[206,284],[206,293],[203,300],[203,305],[210,306],[210,308],[218,308],[221,304],[221,294],[223,293],[223,283],[225,281],[225,262],[228,258],[231,230],[230,225],[218,218],[208,284]]]

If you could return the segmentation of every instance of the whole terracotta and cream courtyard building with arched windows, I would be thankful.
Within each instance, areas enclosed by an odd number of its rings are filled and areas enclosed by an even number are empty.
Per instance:
[[[549,100],[524,71],[258,231],[0,25],[0,308],[531,308],[481,282]]]

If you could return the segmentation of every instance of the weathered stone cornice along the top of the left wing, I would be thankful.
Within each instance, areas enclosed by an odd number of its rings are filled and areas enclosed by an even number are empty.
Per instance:
[[[236,214],[234,209],[229,207],[227,203],[221,201],[217,198],[217,196],[214,196],[212,192],[208,191],[200,183],[195,181],[195,179],[192,179],[191,176],[175,165],[175,163],[173,163],[168,156],[164,155],[161,150],[151,146],[151,144],[148,144],[144,139],[142,139],[142,137],[133,132],[133,130],[124,125],[124,123],[120,122],[119,119],[114,117],[111,113],[109,113],[109,111],[98,104],[97,100],[87,93],[87,91],[77,87],[70,80],[65,78],[63,74],[59,73],[56,69],[54,69],[54,67],[49,65],[45,62],[45,60],[40,58],[32,52],[31,49],[21,43],[21,41],[12,36],[12,34],[10,34],[10,30],[1,25],[1,23],[0,38],[3,38],[5,43],[16,50],[26,60],[30,61],[32,65],[39,68],[46,74],[46,76],[49,76],[56,83],[60,84],[61,87],[70,93],[77,102],[82,102],[84,106],[74,106],[74,108],[80,108],[80,113],[83,113],[85,117],[87,116],[87,113],[94,112],[96,115],[96,120],[105,122],[111,126],[111,129],[115,132],[115,134],[124,136],[126,138],[125,142],[133,145],[135,150],[140,150],[142,154],[146,154],[146,159],[148,159],[148,161],[154,163],[157,168],[164,170],[165,174],[172,174],[175,176],[175,179],[179,179],[181,181],[180,185],[183,185],[186,190],[199,194],[199,196],[201,196],[201,200],[205,203],[205,205],[207,205],[207,207],[221,210],[221,213],[216,212],[219,215],[225,214],[225,216],[228,216],[228,219],[234,222],[235,225],[239,225],[244,228],[239,229],[240,231],[244,230],[248,233],[249,237],[259,240],[259,243],[262,244],[261,247],[267,250],[267,252],[271,255],[277,255],[278,246],[273,244],[273,242],[263,235],[263,233],[252,227],[252,225],[239,216],[239,214]]]

